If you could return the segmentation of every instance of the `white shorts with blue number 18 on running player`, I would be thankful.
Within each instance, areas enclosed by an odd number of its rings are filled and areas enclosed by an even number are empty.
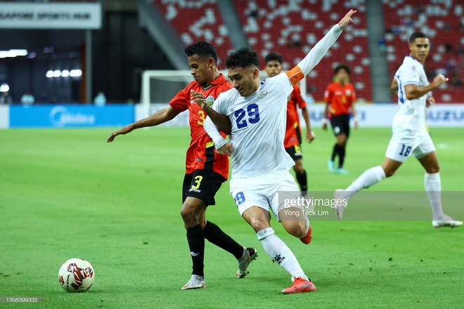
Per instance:
[[[425,128],[416,132],[394,127],[385,157],[397,162],[405,162],[408,157],[413,156],[420,159],[432,151],[435,151],[435,146]]]

